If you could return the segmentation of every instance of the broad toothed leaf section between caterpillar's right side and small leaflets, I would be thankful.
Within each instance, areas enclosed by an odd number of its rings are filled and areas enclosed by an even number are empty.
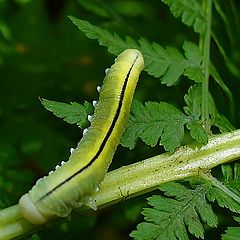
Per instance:
[[[148,145],[160,142],[167,151],[181,145],[184,136],[186,116],[177,108],[165,102],[146,102],[145,106],[134,100],[128,127],[122,138],[122,145],[132,149],[141,138]],[[172,134],[172,129],[175,129]]]

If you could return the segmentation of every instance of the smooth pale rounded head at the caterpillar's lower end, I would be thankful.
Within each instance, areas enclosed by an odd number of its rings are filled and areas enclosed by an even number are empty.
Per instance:
[[[28,194],[24,194],[18,203],[20,211],[24,218],[32,224],[46,223],[46,219],[39,212]]]

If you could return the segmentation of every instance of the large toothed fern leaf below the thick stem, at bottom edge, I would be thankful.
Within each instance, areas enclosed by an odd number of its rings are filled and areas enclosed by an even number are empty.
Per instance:
[[[179,183],[166,183],[160,186],[165,194],[148,198],[152,208],[143,210],[146,222],[140,223],[130,236],[138,240],[187,240],[189,231],[196,237],[204,238],[203,222],[216,227],[218,220],[207,203],[206,184],[195,189],[187,189]]]

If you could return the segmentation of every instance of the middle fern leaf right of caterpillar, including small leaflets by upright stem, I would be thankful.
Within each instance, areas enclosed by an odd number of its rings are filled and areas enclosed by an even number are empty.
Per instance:
[[[201,122],[201,86],[191,86],[184,100],[186,115],[169,103],[147,102],[144,106],[135,100],[121,144],[132,149],[140,138],[147,145],[156,146],[160,143],[165,150],[173,152],[182,143],[184,125],[193,139],[206,144],[208,135]],[[209,104],[214,104],[211,99]],[[210,109],[217,115],[214,107]],[[175,129],[174,134],[172,129]]]

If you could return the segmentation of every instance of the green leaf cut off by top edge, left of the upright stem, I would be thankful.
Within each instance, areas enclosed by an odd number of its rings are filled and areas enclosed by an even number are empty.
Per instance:
[[[162,0],[170,7],[171,13],[187,26],[192,26],[197,33],[204,33],[206,21],[199,1],[195,0]]]

